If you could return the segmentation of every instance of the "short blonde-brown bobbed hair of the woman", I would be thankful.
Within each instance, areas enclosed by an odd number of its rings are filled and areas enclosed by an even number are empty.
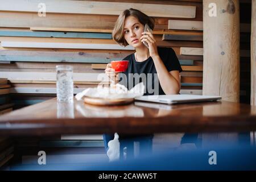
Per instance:
[[[124,33],[123,33],[123,29],[125,27],[125,19],[128,16],[134,16],[135,18],[137,18],[139,20],[139,22],[141,24],[148,24],[148,26],[153,30],[155,27],[155,21],[153,18],[151,18],[150,16],[142,13],[139,10],[136,9],[127,9],[125,11],[123,11],[123,13],[121,15],[119,15],[117,21],[115,22],[115,26],[112,32],[112,37],[114,39],[115,42],[117,42],[119,45],[121,46],[127,46],[128,43],[126,42],[125,38],[124,38]]]

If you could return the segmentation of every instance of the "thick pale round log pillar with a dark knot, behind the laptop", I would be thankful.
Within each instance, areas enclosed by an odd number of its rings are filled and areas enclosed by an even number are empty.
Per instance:
[[[203,1],[203,94],[232,102],[240,98],[239,14],[239,0]]]

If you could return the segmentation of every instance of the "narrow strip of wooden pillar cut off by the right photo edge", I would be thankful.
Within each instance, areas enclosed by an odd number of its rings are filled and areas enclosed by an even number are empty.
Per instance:
[[[256,0],[251,0],[251,105],[256,105]]]

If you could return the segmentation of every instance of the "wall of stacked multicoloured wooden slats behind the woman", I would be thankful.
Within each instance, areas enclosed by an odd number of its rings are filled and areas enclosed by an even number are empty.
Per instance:
[[[56,1],[40,2],[56,4]],[[54,97],[53,78],[57,64],[73,65],[74,87],[78,92],[100,82],[90,74],[104,73],[107,63],[134,52],[133,48],[124,49],[112,40],[111,32],[121,8],[114,11],[113,7],[105,6],[111,3],[116,5],[114,8],[138,6],[153,16],[158,46],[172,47],[182,65],[181,93],[201,93],[203,56],[200,51],[189,54],[181,50],[201,50],[203,32],[186,28],[170,30],[168,22],[203,21],[202,1],[142,0],[138,3],[135,0],[96,0],[88,2],[95,5],[90,12],[80,6],[86,1],[67,3],[68,8],[64,4],[48,7],[46,17],[38,16],[37,10],[27,1],[6,1],[5,6],[1,6],[0,77],[9,78],[10,92],[16,105],[33,104]],[[97,7],[102,5],[108,11],[97,11]]]

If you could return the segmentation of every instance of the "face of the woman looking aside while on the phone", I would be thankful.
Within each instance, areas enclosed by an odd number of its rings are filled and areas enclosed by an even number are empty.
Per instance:
[[[126,42],[134,48],[142,46],[141,42],[142,32],[144,31],[144,25],[139,22],[134,16],[128,16],[125,19],[125,27],[123,34]]]

